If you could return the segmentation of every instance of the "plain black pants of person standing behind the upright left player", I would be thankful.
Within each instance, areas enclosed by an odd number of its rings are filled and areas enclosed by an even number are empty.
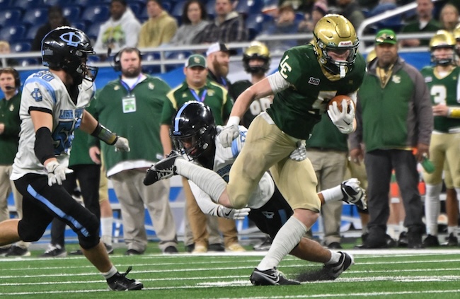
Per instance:
[[[98,221],[100,221],[100,206],[99,206],[99,181],[100,181],[100,165],[96,164],[80,164],[73,165],[71,170],[74,172],[66,175],[66,180],[62,183],[64,189],[73,194],[76,189],[76,180],[79,180],[81,197],[86,209],[91,211]],[[51,225],[51,244],[60,245],[64,248],[64,234],[66,223],[54,218]]]

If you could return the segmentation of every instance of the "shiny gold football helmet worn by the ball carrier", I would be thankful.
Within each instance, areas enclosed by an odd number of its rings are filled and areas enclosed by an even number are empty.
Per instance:
[[[352,23],[342,15],[327,14],[318,20],[313,35],[316,58],[321,66],[330,74],[345,77],[355,63],[360,45]],[[331,55],[343,58],[337,60]]]

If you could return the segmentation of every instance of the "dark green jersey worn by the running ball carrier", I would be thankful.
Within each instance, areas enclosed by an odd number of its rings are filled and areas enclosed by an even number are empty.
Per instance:
[[[328,101],[335,95],[354,93],[360,87],[366,64],[358,53],[352,70],[344,78],[330,81],[321,70],[314,47],[303,45],[284,52],[278,71],[291,86],[275,94],[267,112],[289,136],[309,139],[314,125],[326,112]]]

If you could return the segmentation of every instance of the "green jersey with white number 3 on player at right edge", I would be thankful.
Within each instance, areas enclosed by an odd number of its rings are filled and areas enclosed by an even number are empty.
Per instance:
[[[447,106],[460,107],[460,67],[455,67],[449,75],[439,78],[439,74],[432,66],[426,66],[420,71],[425,78],[430,90],[432,105],[444,104]],[[435,116],[435,131],[448,133],[449,129],[459,128],[460,119]]]

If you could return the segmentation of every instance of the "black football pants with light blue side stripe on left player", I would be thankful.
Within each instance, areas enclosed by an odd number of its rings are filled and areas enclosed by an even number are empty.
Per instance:
[[[23,218],[18,224],[21,240],[40,240],[53,218],[59,218],[78,235],[81,247],[99,242],[98,218],[76,202],[64,187],[48,186],[47,175],[28,174],[14,181],[23,195]]]

